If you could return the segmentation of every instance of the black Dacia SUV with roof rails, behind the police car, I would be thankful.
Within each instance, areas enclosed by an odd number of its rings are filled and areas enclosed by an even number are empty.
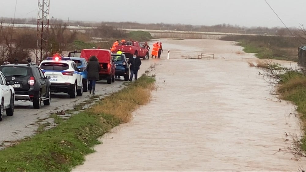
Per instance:
[[[32,101],[35,109],[41,107],[41,101],[44,105],[50,105],[50,77],[45,76],[36,63],[31,63],[31,60],[28,62],[4,63],[0,66],[0,71],[12,83],[15,100]]]

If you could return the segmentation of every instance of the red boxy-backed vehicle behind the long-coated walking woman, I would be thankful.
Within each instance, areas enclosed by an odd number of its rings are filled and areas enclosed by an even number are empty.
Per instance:
[[[81,57],[89,61],[91,56],[96,56],[98,58],[99,64],[101,66],[101,71],[99,73],[100,80],[106,79],[108,84],[115,82],[115,64],[111,56],[110,50],[99,49],[99,48],[88,48],[81,51]]]

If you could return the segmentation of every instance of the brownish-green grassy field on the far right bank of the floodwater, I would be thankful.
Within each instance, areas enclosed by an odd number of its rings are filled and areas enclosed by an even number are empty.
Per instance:
[[[282,36],[225,36],[220,40],[239,42],[244,52],[255,53],[259,59],[279,59],[297,61],[297,50],[300,43],[293,37]]]

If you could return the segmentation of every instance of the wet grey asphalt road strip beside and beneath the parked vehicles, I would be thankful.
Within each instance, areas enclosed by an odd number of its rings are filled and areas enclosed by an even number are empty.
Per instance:
[[[150,66],[153,60],[142,60],[142,65],[138,73],[138,78],[142,73],[145,72]],[[100,98],[118,91],[122,88],[124,78],[116,79],[115,82],[107,84],[106,80],[101,80],[96,84],[95,94],[99,95]],[[128,81],[129,82],[129,81]],[[65,93],[51,93],[51,104],[49,106],[43,105],[40,109],[34,109],[32,102],[29,101],[15,101],[15,111],[12,117],[6,116],[4,113],[3,120],[0,121],[0,145],[12,144],[11,141],[22,139],[26,136],[32,136],[36,133],[37,128],[40,124],[50,122],[52,124],[53,119],[48,118],[50,114],[56,113],[57,111],[73,109],[77,104],[80,104],[92,96],[88,92],[83,92],[82,96],[76,98],[69,98],[68,94]],[[52,125],[51,125],[52,126]]]

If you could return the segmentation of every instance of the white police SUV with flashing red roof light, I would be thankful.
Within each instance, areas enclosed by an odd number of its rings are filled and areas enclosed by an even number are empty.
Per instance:
[[[47,57],[39,67],[45,76],[50,76],[51,92],[67,93],[70,98],[83,95],[83,76],[80,72],[86,69],[78,68],[69,57]]]

